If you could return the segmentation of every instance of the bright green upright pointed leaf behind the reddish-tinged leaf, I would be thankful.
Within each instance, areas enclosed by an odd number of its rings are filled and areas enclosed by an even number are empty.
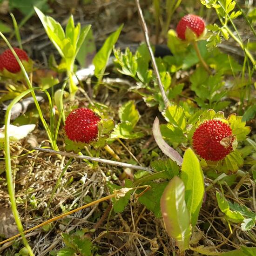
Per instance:
[[[181,179],[185,185],[185,201],[190,221],[195,226],[204,196],[204,179],[200,162],[191,148],[183,156]]]

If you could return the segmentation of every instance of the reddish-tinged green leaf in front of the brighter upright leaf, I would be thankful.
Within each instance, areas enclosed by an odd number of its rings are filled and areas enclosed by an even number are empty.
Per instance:
[[[191,224],[185,203],[185,185],[177,176],[168,183],[162,194],[161,211],[168,235],[181,251],[189,249]]]

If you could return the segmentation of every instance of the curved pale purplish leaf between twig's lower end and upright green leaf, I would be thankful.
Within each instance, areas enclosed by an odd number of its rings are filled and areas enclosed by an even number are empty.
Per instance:
[[[162,152],[165,155],[167,155],[171,160],[175,161],[178,165],[182,165],[183,159],[181,155],[163,140],[160,131],[159,120],[157,117],[155,118],[152,130],[155,142],[158,145],[158,147],[162,150]]]

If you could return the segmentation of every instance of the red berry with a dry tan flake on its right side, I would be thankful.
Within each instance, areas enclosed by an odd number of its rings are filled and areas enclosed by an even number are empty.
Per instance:
[[[204,121],[194,132],[193,148],[205,160],[219,161],[233,151],[235,136],[228,124],[220,120]]]

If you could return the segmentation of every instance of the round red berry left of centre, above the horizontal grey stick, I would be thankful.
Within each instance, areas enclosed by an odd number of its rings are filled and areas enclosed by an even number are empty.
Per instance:
[[[65,121],[69,140],[89,143],[98,136],[98,122],[101,118],[89,108],[74,109]]]

